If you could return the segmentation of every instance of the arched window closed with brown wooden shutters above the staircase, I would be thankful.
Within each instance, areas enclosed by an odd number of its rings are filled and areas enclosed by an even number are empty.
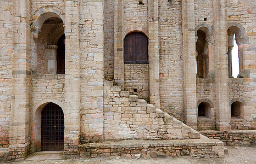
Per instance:
[[[141,32],[127,34],[124,39],[124,63],[148,63],[148,38]]]

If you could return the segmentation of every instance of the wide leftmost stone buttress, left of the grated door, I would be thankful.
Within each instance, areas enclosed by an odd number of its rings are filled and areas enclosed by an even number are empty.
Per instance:
[[[13,1],[12,115],[9,151],[11,159],[26,157],[30,149],[31,3]]]

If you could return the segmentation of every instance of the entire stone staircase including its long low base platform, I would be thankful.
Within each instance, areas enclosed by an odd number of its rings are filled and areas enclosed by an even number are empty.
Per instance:
[[[80,156],[224,157],[224,143],[209,139],[183,122],[104,81],[104,140],[79,146]],[[139,155],[140,154],[140,155]]]

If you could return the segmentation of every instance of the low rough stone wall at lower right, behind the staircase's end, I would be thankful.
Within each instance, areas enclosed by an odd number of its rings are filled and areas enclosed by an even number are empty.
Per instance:
[[[226,145],[256,145],[256,130],[199,131],[208,138],[219,139]]]

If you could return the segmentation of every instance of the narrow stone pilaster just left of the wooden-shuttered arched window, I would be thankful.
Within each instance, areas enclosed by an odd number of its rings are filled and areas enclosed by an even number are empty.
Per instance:
[[[114,15],[114,80],[124,85],[124,2],[115,0]]]

